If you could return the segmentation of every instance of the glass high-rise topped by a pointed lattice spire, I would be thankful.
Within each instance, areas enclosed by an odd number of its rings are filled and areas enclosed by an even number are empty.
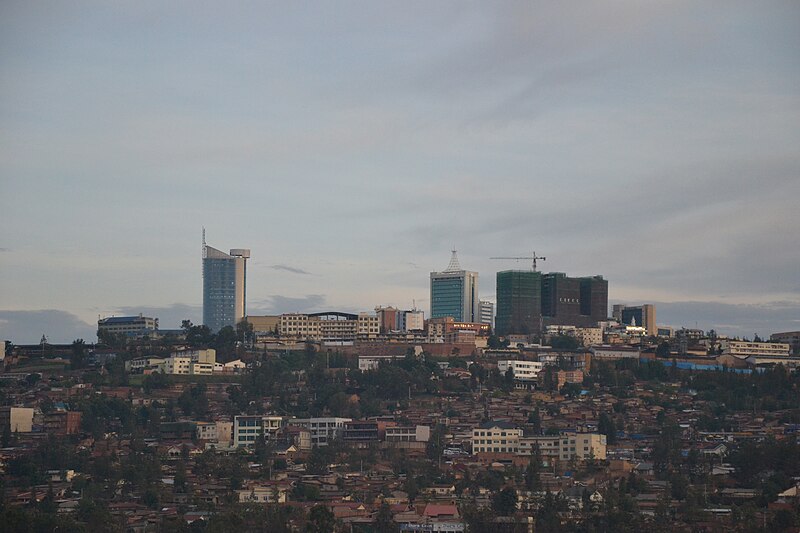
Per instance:
[[[480,322],[478,273],[463,270],[455,250],[443,272],[431,272],[430,316],[451,316],[457,322]]]

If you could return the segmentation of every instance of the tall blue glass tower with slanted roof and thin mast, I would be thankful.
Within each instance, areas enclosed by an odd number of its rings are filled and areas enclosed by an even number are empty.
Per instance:
[[[203,324],[214,333],[245,316],[249,257],[246,248],[226,254],[203,239]]]

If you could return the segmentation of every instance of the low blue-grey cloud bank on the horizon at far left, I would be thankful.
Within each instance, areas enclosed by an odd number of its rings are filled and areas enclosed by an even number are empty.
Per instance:
[[[75,339],[94,342],[97,326],[88,324],[67,311],[0,311],[0,340],[14,344],[38,344],[42,335],[48,342],[64,344]]]

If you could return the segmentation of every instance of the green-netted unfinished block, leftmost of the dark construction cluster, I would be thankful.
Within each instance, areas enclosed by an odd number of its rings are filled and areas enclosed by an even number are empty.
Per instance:
[[[542,274],[533,270],[497,273],[498,335],[539,331],[542,317]]]

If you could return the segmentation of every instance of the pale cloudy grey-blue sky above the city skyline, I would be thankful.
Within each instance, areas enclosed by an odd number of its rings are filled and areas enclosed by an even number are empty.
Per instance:
[[[659,324],[800,329],[800,3],[0,3],[0,338],[428,311],[454,247]]]

